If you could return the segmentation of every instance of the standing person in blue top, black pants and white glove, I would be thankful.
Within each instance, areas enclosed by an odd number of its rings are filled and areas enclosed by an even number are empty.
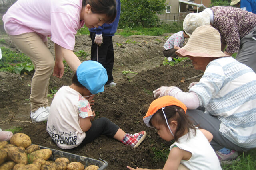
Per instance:
[[[121,11],[121,2],[116,0],[116,19],[113,23],[103,24],[98,28],[90,28],[90,37],[92,39],[91,60],[98,61],[107,70],[108,81],[105,86],[114,87],[114,78],[112,75],[114,66],[114,48],[112,36],[116,33]]]

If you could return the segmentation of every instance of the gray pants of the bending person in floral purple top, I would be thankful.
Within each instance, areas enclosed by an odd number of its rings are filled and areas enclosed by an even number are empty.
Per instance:
[[[240,40],[240,51],[236,55],[236,60],[256,72],[256,27]]]

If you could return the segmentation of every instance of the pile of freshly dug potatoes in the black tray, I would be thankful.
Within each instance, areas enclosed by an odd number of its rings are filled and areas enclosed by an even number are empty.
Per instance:
[[[7,141],[0,142],[0,170],[98,170],[98,166],[84,168],[80,162],[68,158],[48,160],[52,150],[31,145],[31,139],[24,133],[16,133]]]

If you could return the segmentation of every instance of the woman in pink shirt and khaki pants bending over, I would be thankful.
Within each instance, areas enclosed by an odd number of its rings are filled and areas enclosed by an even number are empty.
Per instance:
[[[30,94],[33,122],[48,118],[52,72],[58,78],[63,76],[63,59],[73,71],[81,64],[73,52],[77,30],[112,23],[115,18],[116,0],[18,0],[8,9],[4,29],[35,66]],[[55,43],[55,61],[47,37]]]

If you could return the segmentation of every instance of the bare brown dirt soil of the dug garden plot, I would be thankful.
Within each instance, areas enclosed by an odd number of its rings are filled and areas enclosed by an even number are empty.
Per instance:
[[[20,52],[8,39],[4,44]],[[202,74],[194,70],[190,60],[176,66],[164,66],[162,62],[162,48],[166,39],[164,36],[139,36],[122,37],[115,35],[114,44],[114,82],[115,87],[105,87],[105,91],[94,97],[95,104],[92,109],[99,113],[98,117],[107,117],[127,133],[136,133],[141,130],[147,132],[147,137],[137,148],[125,146],[115,139],[101,136],[93,142],[78,146],[75,149],[59,149],[46,132],[46,122],[32,123],[30,119],[30,83],[33,73],[28,75],[0,72],[0,127],[12,129],[21,127],[22,133],[30,136],[32,143],[52,149],[58,149],[73,154],[78,154],[94,159],[103,159],[108,162],[107,170],[126,169],[126,166],[158,169],[163,168],[164,161],[156,160],[154,150],[166,150],[172,142],[166,142],[158,137],[156,130],[146,127],[142,117],[146,114],[149,104],[154,100],[152,91],[160,86],[178,86],[188,91],[191,82],[199,78],[188,78]],[[84,50],[88,56],[82,60],[90,59],[91,40],[88,35],[76,37],[74,51]],[[54,44],[49,41],[48,46],[54,55]],[[122,74],[122,71],[132,71],[138,74]],[[51,88],[58,89],[70,85],[73,72],[66,68],[63,78],[50,78],[49,93]],[[183,82],[183,80],[186,80]],[[48,98],[51,103],[52,98]],[[97,117],[96,117],[97,118]]]

